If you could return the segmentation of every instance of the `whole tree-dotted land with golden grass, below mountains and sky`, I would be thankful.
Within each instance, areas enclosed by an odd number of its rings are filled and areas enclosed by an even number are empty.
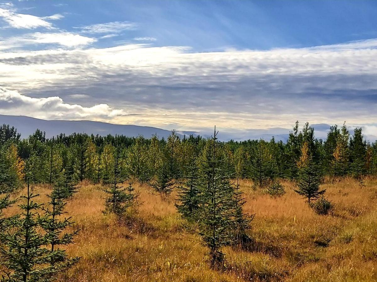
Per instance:
[[[1,126],[1,281],[377,279],[377,143],[361,128],[217,134]]]

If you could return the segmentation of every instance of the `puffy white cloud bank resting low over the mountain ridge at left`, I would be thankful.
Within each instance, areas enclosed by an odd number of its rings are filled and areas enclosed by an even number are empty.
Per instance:
[[[125,115],[123,110],[115,110],[106,104],[92,107],[70,105],[60,97],[32,98],[15,90],[0,87],[0,109],[2,114],[30,115],[44,119],[92,119],[110,120]],[[26,112],[25,112],[26,110]]]

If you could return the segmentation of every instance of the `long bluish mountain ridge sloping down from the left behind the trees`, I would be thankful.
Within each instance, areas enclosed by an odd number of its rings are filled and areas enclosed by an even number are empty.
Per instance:
[[[157,134],[159,138],[164,137],[166,139],[171,133],[169,130],[150,126],[121,125],[90,120],[40,120],[22,115],[0,115],[0,124],[4,123],[17,128],[17,132],[21,133],[22,138],[27,138],[36,129],[46,132],[47,138],[59,135],[60,133],[69,135],[76,132],[87,133],[89,135],[99,134],[102,136],[108,134],[130,137],[143,135],[145,138],[150,138],[153,134]],[[195,132],[187,133],[194,134]],[[185,134],[190,135],[187,133]],[[177,135],[183,137],[183,134],[177,133]]]

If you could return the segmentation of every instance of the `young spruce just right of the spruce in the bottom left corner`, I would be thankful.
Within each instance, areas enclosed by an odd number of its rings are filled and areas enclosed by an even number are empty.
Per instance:
[[[62,271],[76,264],[80,258],[68,258],[66,251],[59,249],[61,245],[71,244],[73,237],[77,235],[78,230],[72,233],[63,233],[63,231],[72,226],[74,222],[70,221],[71,217],[61,220],[61,216],[66,214],[64,211],[67,202],[67,191],[58,186],[54,187],[51,195],[48,195],[50,202],[50,208],[42,208],[44,211],[45,220],[41,225],[46,230],[47,235],[51,238],[51,252],[50,252],[50,264],[54,267],[55,271]]]

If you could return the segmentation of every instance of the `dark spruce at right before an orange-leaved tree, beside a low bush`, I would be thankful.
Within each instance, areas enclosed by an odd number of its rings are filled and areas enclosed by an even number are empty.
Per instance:
[[[318,199],[326,190],[320,190],[320,175],[313,157],[308,156],[306,165],[300,167],[298,189],[294,190],[299,195],[307,199],[310,205],[313,200]]]

